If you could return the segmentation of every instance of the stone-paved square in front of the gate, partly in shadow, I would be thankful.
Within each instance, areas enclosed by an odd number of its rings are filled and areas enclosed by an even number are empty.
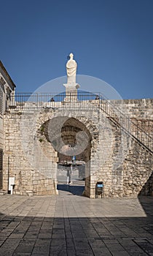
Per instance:
[[[153,197],[0,196],[1,256],[153,255]]]

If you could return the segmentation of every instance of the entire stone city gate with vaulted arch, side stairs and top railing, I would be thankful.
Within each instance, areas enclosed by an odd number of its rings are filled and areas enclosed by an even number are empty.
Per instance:
[[[25,102],[16,94],[4,115],[3,188],[10,176],[16,195],[57,194],[58,162],[71,145],[81,146],[87,197],[95,197],[97,181],[103,181],[103,197],[152,195],[153,100],[73,95],[49,102],[33,94]]]

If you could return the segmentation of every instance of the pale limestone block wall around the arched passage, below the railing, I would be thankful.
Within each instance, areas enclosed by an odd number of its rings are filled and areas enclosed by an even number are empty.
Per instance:
[[[114,103],[152,136],[152,99]],[[58,193],[58,151],[47,140],[43,130],[47,121],[57,116],[75,118],[76,126],[80,122],[91,136],[90,146],[85,153],[87,197],[95,197],[97,181],[103,181],[103,197],[152,194],[152,154],[99,108],[44,108],[35,111],[10,109],[4,116],[4,189],[7,190],[9,168],[9,176],[15,176],[15,194]]]

